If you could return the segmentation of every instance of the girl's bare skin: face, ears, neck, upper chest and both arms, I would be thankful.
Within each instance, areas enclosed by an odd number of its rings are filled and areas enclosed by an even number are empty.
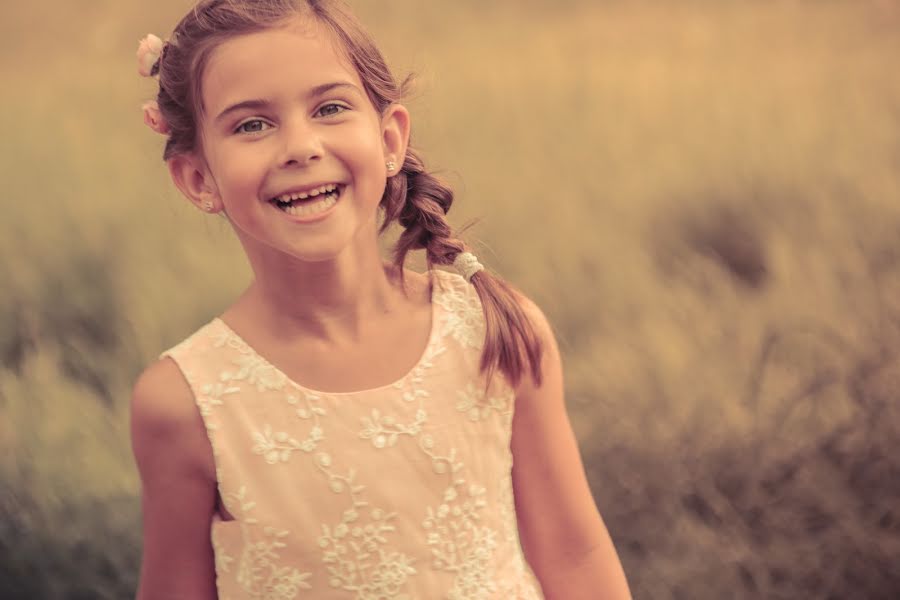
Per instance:
[[[400,379],[430,330],[428,277],[406,272],[405,294],[376,233],[385,163],[403,162],[409,113],[394,104],[379,115],[339,48],[299,20],[219,46],[202,80],[202,153],[168,164],[189,200],[228,215],[253,269],[223,320],[294,381],[332,392]],[[266,104],[227,110],[248,100]],[[317,222],[293,222],[269,202],[325,183],[346,187]],[[525,556],[548,599],[630,598],[566,414],[556,341],[521,301],[545,348],[542,385],[526,370],[512,424]],[[135,384],[132,440],[143,482],[138,599],[216,598],[210,520],[224,509],[203,422],[169,359]]]

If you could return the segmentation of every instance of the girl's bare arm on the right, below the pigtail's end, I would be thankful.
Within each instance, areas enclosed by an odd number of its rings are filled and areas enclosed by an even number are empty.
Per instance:
[[[524,378],[513,417],[513,489],[525,556],[548,600],[628,600],[566,413],[556,340],[540,309],[524,297],[522,306],[544,344],[542,384]]]

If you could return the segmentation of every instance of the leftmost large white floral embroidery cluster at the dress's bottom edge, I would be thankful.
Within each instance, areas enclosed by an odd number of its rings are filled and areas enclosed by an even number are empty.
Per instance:
[[[279,551],[286,547],[282,540],[290,532],[264,526],[262,535],[259,535],[259,521],[250,515],[256,503],[247,499],[246,487],[241,486],[237,492],[229,494],[228,499],[241,515],[238,522],[244,545],[238,560],[237,582],[249,594],[248,598],[293,600],[300,590],[312,589],[307,582],[311,573],[301,573],[292,567],[277,564]],[[229,557],[226,563],[230,560],[233,559]]]

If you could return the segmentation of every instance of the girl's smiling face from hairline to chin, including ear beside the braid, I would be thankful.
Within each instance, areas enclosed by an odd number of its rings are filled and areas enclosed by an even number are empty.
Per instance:
[[[395,104],[379,114],[321,27],[228,40],[201,89],[204,185],[252,262],[377,249],[385,163],[403,162],[408,113]],[[276,202],[292,197],[295,208]]]

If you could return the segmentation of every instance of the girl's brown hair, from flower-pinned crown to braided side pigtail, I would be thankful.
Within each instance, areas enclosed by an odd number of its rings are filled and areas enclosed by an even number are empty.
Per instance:
[[[198,128],[198,116],[204,112],[200,82],[213,50],[230,38],[279,27],[298,16],[310,18],[332,33],[380,114],[400,101],[410,78],[402,84],[397,82],[372,37],[340,0],[201,0],[175,27],[152,70],[159,75],[157,102],[170,128],[164,160],[193,153],[202,146]],[[424,249],[429,269],[451,265],[466,251],[466,245],[454,237],[444,218],[451,204],[453,191],[425,170],[410,146],[399,173],[388,178],[380,203],[384,221],[379,234],[395,220],[404,228],[393,249],[401,281],[410,250]],[[490,381],[499,369],[517,385],[528,369],[540,384],[541,342],[517,292],[487,271],[476,273],[471,281],[485,317],[481,371],[487,371]]]

